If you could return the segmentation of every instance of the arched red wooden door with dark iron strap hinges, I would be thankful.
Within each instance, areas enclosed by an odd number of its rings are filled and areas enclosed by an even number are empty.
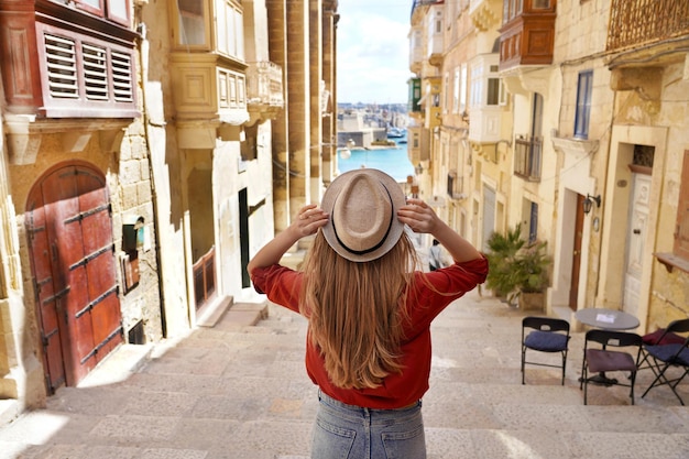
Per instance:
[[[87,165],[46,174],[31,190],[26,230],[51,391],[76,385],[122,342],[110,200]]]

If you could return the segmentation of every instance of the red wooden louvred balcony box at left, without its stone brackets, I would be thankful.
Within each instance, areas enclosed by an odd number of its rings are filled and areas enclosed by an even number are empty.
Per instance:
[[[56,118],[133,119],[136,33],[51,1],[0,2],[8,111]]]

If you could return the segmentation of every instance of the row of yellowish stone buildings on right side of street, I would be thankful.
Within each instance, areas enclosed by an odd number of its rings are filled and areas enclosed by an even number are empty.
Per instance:
[[[479,247],[517,223],[547,242],[546,313],[622,309],[642,332],[689,314],[688,17],[689,2],[669,0],[414,2],[422,195]],[[482,81],[496,107],[481,107]]]

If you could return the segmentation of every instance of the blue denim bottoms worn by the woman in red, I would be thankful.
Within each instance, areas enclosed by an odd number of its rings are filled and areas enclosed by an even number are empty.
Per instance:
[[[398,409],[347,405],[318,391],[311,459],[426,459],[422,401]]]

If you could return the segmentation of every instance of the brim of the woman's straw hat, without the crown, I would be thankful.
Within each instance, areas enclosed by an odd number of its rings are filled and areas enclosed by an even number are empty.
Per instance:
[[[349,181],[354,176],[358,176],[359,174],[367,174],[370,177],[378,179],[383,185],[383,187],[387,189],[387,193],[390,193],[390,198],[392,201],[392,225],[387,237],[385,238],[385,241],[383,241],[383,243],[375,250],[363,254],[352,253],[347,250],[338,240],[335,233],[335,228],[332,226],[332,208],[335,206],[337,197],[339,196],[342,188],[349,183]],[[384,172],[375,168],[360,168],[346,172],[330,183],[320,201],[320,208],[330,215],[328,223],[321,228],[322,234],[326,238],[328,244],[338,254],[347,260],[354,262],[365,262],[379,259],[385,253],[390,252],[390,250],[395,247],[395,244],[402,237],[402,232],[404,231],[404,223],[402,223],[402,221],[400,221],[400,219],[397,218],[397,210],[400,210],[400,208],[404,206],[405,203],[406,198],[400,184]]]

